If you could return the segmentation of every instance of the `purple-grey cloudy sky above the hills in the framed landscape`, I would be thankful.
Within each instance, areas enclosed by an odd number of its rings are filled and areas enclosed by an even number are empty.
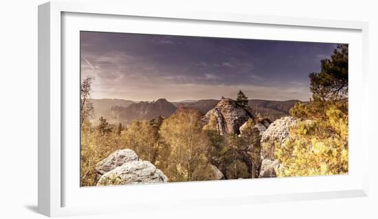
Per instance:
[[[248,98],[308,101],[309,73],[337,44],[80,32],[81,77],[92,98],[168,101]]]

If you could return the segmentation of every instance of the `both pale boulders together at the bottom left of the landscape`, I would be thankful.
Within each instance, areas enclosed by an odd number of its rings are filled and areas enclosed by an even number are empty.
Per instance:
[[[96,165],[97,185],[166,183],[168,178],[131,149],[120,149]]]

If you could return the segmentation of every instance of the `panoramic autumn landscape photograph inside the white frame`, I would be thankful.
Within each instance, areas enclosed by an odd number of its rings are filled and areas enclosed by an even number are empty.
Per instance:
[[[80,32],[80,186],[348,174],[348,45]]]

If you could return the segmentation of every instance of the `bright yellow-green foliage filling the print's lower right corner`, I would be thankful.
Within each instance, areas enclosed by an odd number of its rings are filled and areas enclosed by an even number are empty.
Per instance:
[[[322,119],[299,122],[275,156],[283,166],[278,176],[347,174],[348,115],[330,107]]]

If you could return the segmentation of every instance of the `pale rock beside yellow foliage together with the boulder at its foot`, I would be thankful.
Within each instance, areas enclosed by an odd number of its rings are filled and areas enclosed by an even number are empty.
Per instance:
[[[261,137],[261,163],[259,178],[276,177],[275,167],[279,167],[277,160],[274,160],[276,143],[285,143],[289,138],[289,129],[297,124],[296,118],[285,116],[271,123]]]

